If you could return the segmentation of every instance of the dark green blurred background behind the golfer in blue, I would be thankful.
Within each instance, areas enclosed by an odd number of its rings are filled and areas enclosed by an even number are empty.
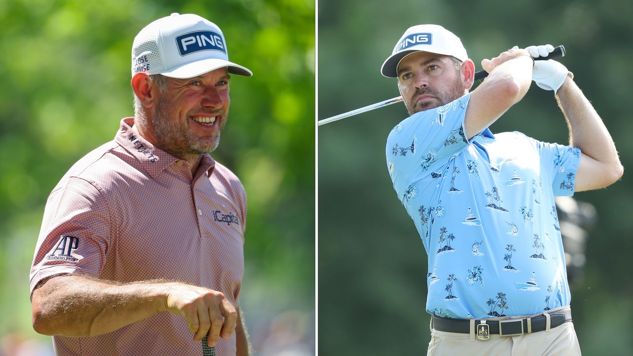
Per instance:
[[[461,38],[475,68],[511,48],[565,45],[561,59],[633,167],[633,3],[517,1],[318,2],[318,118],[399,96],[380,66],[408,27],[444,25]],[[385,163],[387,134],[407,116],[403,104],[318,128],[319,355],[422,355],[427,258]],[[491,127],[567,144],[553,92],[532,85]],[[574,324],[584,355],[630,355],[633,341],[633,179],[577,193],[596,207],[586,265],[572,283]]]

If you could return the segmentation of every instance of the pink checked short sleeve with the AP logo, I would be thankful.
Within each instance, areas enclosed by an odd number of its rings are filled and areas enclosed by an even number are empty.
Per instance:
[[[110,213],[91,183],[71,177],[51,193],[44,209],[30,272],[30,290],[51,276],[99,277],[110,239]]]

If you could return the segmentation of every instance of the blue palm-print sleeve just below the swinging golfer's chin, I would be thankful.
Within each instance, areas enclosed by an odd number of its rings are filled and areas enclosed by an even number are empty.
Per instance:
[[[400,192],[407,181],[430,175],[468,148],[464,118],[470,93],[432,110],[406,118],[387,137],[387,168]]]

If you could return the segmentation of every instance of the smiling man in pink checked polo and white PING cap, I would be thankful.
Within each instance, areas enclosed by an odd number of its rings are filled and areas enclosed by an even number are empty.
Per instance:
[[[33,326],[57,355],[199,355],[205,337],[218,355],[248,355],[246,193],[209,155],[229,73],[252,75],[200,16],[136,36],[135,115],[53,189],[35,248]]]

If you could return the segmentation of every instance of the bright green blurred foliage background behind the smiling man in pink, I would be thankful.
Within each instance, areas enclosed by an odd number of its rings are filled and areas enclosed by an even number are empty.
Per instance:
[[[231,60],[254,73],[232,80],[213,153],[248,193],[241,305],[253,346],[259,355],[314,354],[315,2],[3,0],[0,355],[48,354],[51,338],[30,326],[28,294],[46,197],[134,115],[132,41],[172,12],[215,22]]]

